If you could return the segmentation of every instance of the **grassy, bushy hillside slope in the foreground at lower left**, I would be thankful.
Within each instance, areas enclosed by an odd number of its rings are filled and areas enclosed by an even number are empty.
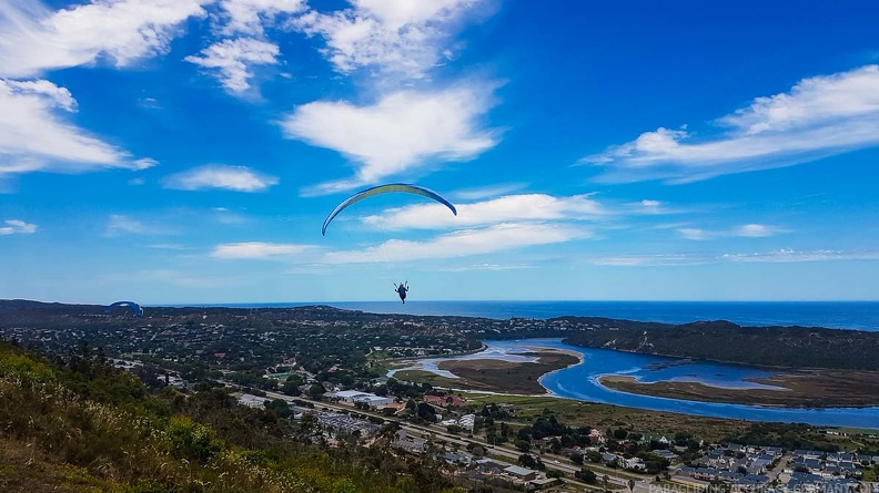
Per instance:
[[[223,389],[151,397],[88,347],[62,366],[0,343],[0,424],[1,491],[464,491],[381,442],[315,443],[314,420],[235,405]]]

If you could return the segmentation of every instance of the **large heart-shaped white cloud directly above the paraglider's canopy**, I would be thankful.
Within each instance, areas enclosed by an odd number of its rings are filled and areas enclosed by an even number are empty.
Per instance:
[[[375,183],[431,160],[466,161],[497,143],[496,132],[477,119],[491,106],[485,88],[437,92],[403,91],[372,106],[315,102],[282,122],[286,135],[337,151],[358,163],[356,177],[316,187],[331,193]]]

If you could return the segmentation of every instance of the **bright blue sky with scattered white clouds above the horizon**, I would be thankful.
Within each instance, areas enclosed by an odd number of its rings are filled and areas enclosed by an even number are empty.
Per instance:
[[[0,298],[877,300],[877,18],[0,0]]]

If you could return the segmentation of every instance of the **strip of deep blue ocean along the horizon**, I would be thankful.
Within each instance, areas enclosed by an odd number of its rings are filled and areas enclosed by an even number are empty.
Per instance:
[[[374,314],[463,316],[495,319],[607,317],[688,323],[728,320],[741,326],[802,326],[879,331],[879,301],[345,301],[223,305],[284,308],[330,305]],[[220,305],[209,305],[220,306]]]

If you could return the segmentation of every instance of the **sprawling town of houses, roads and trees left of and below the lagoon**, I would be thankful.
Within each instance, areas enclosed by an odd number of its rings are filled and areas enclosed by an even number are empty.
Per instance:
[[[549,410],[526,417],[503,396],[489,403],[478,394],[387,377],[393,364],[413,358],[478,351],[483,339],[616,329],[608,325],[330,307],[161,308],[143,318],[80,309],[40,323],[27,320],[0,327],[0,336],[57,357],[98,351],[148,387],[183,396],[212,381],[239,405],[307,424],[315,443],[386,446],[435,461],[446,474],[475,484],[629,493],[855,492],[875,489],[877,481],[875,435],[866,435],[859,451],[737,444],[667,428],[563,422]]]

